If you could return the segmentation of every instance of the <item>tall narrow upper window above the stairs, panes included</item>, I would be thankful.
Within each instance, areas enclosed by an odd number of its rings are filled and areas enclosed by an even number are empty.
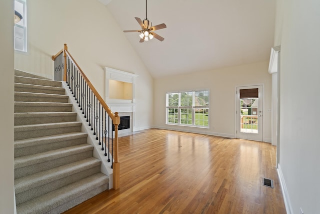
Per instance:
[[[26,52],[26,2],[25,0],[15,0],[14,10],[22,19],[14,24],[14,50]]]

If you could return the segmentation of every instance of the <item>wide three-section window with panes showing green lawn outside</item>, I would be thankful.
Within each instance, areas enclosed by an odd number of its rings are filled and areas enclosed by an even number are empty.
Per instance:
[[[166,124],[208,127],[209,91],[166,94]]]

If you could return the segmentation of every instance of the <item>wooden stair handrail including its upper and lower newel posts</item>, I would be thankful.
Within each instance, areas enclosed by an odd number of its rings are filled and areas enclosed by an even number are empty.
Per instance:
[[[113,189],[119,188],[119,178],[120,178],[120,163],[118,161],[118,125],[120,124],[120,117],[118,115],[118,112],[113,112],[111,109],[106,105],[100,94],[96,91],[92,83],[89,81],[89,79],[86,77],[82,69],[79,67],[79,65],[75,62],[71,54],[67,50],[67,45],[64,44],[64,47],[61,51],[59,51],[56,55],[52,56],[51,59],[54,61],[57,56],[59,56],[63,52],[64,56],[64,70],[63,70],[63,81],[66,81],[66,55],[72,60],[74,65],[77,67],[80,75],[82,76],[83,80],[86,82],[87,86],[91,89],[92,93],[95,95],[101,106],[104,108],[104,110],[107,112],[108,116],[111,118],[112,123],[114,125],[114,161],[113,161]]]

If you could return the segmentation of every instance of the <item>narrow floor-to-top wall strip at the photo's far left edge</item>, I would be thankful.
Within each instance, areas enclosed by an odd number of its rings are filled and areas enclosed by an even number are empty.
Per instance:
[[[0,1],[0,213],[14,212],[13,1]]]

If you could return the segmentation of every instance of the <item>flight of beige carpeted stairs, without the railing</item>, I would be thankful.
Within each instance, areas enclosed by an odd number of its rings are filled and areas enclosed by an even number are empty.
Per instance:
[[[14,73],[17,213],[61,213],[108,187],[61,82]]]

